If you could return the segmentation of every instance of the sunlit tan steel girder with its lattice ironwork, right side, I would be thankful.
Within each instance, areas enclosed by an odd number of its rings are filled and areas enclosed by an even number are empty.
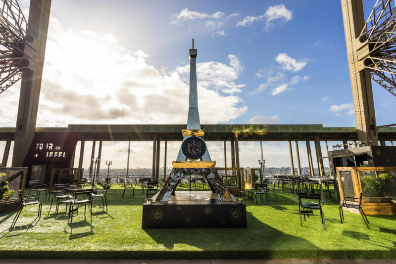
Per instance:
[[[377,0],[364,20],[362,0],[341,0],[358,140],[378,145],[371,80],[396,96],[395,1]]]

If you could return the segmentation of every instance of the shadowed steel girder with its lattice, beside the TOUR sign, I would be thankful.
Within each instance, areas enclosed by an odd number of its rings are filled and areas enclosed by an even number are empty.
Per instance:
[[[21,79],[12,167],[22,167],[36,129],[51,0],[0,0],[0,93]]]

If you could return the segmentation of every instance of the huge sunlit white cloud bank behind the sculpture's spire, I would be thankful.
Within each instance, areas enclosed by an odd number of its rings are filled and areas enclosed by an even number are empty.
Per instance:
[[[100,56],[98,55],[100,54]],[[68,124],[185,124],[189,63],[169,72],[146,62],[148,54],[131,52],[112,35],[64,28],[51,17],[40,94],[38,127]],[[198,104],[202,123],[230,122],[247,111],[237,84],[243,66],[198,64]],[[187,74],[179,68],[187,69]],[[187,76],[185,76],[187,75]],[[9,91],[8,91],[9,90]],[[19,99],[17,85],[1,96],[0,126],[13,127]],[[227,92],[222,94],[221,92]]]

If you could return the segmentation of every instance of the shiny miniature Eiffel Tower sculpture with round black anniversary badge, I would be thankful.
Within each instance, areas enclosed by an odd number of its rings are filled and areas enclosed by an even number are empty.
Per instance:
[[[188,175],[199,175],[209,183],[210,189],[216,193],[221,202],[237,202],[224,185],[221,177],[217,174],[209,151],[206,148],[202,136],[204,131],[200,128],[198,113],[197,92],[197,49],[190,49],[190,102],[187,119],[187,129],[182,130],[183,142],[176,161],[172,162],[173,170],[166,179],[164,186],[158,193],[154,202],[167,202],[181,181]],[[198,161],[199,160],[199,161]]]

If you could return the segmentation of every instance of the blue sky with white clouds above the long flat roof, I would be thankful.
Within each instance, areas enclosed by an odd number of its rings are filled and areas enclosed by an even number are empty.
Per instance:
[[[355,126],[338,0],[52,0],[38,125],[185,123],[192,38],[201,123]],[[373,92],[377,125],[395,123]]]

